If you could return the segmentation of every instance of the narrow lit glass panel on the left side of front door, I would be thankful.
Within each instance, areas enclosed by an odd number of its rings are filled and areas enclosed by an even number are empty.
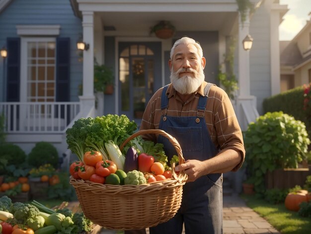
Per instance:
[[[121,85],[121,110],[130,110],[130,78],[129,59],[120,58],[120,85]]]

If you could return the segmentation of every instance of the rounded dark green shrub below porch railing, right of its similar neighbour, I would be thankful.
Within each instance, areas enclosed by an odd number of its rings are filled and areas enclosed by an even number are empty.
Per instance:
[[[57,149],[49,142],[38,142],[32,148],[28,155],[28,163],[34,167],[40,167],[44,164],[51,164],[54,168],[58,166]]]

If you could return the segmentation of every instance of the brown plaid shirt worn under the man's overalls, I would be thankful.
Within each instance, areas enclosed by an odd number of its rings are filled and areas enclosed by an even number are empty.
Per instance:
[[[172,84],[169,85],[166,94],[168,95],[167,116],[188,117],[197,116],[197,106],[199,97],[204,96],[203,82],[198,91],[191,96],[190,99],[183,103],[176,94]],[[140,129],[158,129],[161,119],[161,94],[162,89],[156,91],[151,98],[145,110]],[[233,149],[240,151],[243,160],[237,165],[233,171],[236,171],[243,163],[245,157],[245,149],[243,145],[242,132],[235,116],[232,103],[224,90],[217,86],[212,86],[208,95],[205,121],[211,139],[220,151]],[[144,138],[156,141],[156,135],[144,135]]]

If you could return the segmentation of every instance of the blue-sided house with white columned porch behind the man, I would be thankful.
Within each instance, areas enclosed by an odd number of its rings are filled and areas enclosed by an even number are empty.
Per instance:
[[[65,131],[79,117],[126,114],[139,123],[136,111],[169,83],[170,48],[183,35],[201,43],[206,80],[217,85],[235,38],[233,106],[245,130],[262,112],[263,99],[280,92],[278,27],[288,10],[278,0],[251,2],[256,10],[241,22],[235,0],[0,0],[0,48],[8,52],[0,58],[0,112],[7,141],[26,153],[35,142],[49,141],[62,155]],[[150,34],[160,20],[175,26],[173,37]],[[247,34],[254,38],[250,51],[242,47]],[[80,37],[89,44],[82,54]],[[102,113],[95,109],[94,58],[115,74]]]

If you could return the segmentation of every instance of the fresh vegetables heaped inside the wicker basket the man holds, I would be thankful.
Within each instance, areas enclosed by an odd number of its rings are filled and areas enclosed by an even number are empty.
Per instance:
[[[119,145],[136,130],[137,124],[125,115],[78,119],[66,131],[68,148],[78,156],[70,174],[75,179],[112,185],[140,185],[171,178],[163,144],[138,136],[121,152]],[[178,162],[176,155],[172,162]]]

